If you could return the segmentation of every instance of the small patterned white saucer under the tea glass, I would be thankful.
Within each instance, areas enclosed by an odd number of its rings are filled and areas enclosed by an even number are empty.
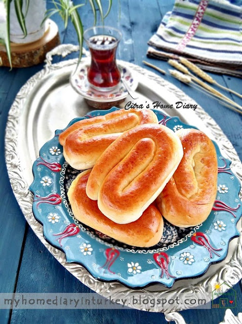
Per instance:
[[[92,88],[88,82],[88,67],[88,63],[81,64],[78,67],[78,70],[70,76],[70,84],[72,85],[74,90],[86,99],[99,102],[108,102],[118,101],[126,98],[129,93],[122,83],[122,79],[125,79],[126,83],[133,91],[135,91],[138,86],[138,80],[134,77],[134,73],[127,67],[118,64],[118,68],[121,73],[121,81],[119,82],[117,87],[112,91],[98,91]]]

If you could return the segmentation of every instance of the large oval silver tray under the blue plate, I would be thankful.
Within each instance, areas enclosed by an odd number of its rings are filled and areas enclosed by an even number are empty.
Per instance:
[[[33,75],[21,88],[9,111],[5,137],[6,164],[14,194],[27,222],[52,255],[69,272],[104,297],[126,298],[130,302],[133,296],[136,298],[139,295],[147,299],[164,298],[166,296],[166,298],[178,297],[180,300],[185,300],[196,293],[201,298],[205,298],[207,302],[211,301],[211,291],[216,281],[226,281],[229,286],[234,286],[242,278],[241,235],[230,242],[226,259],[218,264],[211,265],[202,277],[177,281],[171,289],[155,285],[140,290],[129,289],[119,282],[101,282],[95,279],[81,265],[66,263],[64,253],[52,247],[45,240],[42,225],[33,217],[33,197],[28,190],[33,180],[33,161],[39,155],[39,149],[42,145],[54,136],[56,129],[66,127],[72,118],[84,116],[93,110],[69,84],[69,77],[75,69],[77,60],[51,64],[52,55],[65,56],[73,50],[78,49],[72,45],[60,45],[52,50],[47,55],[45,68]],[[127,97],[121,107],[124,107],[128,101],[143,104],[147,102],[146,104],[150,103],[150,105],[153,101],[160,101],[164,104],[175,104],[177,101],[196,104],[162,77],[128,62],[119,61],[119,63],[126,64],[132,69],[139,80],[136,90],[139,99],[133,100],[131,97]],[[203,108],[198,106],[195,111],[166,109],[163,112],[171,116],[178,115],[184,123],[196,126],[214,139],[220,146],[222,154],[232,161],[231,169],[242,182],[242,165],[237,153],[216,122]],[[240,198],[241,196],[242,190],[240,191]],[[241,232],[241,220],[237,227]],[[179,305],[165,304],[163,307],[160,305],[150,307],[149,305],[150,303],[145,305],[138,303],[132,305],[131,303],[130,306],[166,314],[189,307],[182,303]],[[178,314],[176,313],[174,316],[172,314],[170,313],[167,316],[167,320],[178,322]]]

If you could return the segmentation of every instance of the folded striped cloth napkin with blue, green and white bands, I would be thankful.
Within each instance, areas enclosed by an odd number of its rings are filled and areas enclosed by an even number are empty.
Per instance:
[[[147,56],[178,59],[242,76],[242,1],[175,0],[148,45]]]

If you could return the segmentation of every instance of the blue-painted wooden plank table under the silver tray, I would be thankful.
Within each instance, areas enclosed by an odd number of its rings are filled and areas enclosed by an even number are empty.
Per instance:
[[[147,41],[156,31],[165,13],[172,9],[174,0],[122,0],[118,18],[118,4],[113,1],[106,24],[119,28],[123,39],[118,47],[117,58],[143,66],[142,60],[168,70],[168,63],[146,58]],[[84,27],[93,22],[91,8],[82,13]],[[59,17],[54,17],[59,26],[62,43],[77,43],[73,28],[63,28]],[[73,56],[72,56],[73,57]],[[71,58],[71,56],[70,56]],[[56,58],[58,62],[59,58]],[[46,250],[26,223],[12,192],[4,157],[4,135],[8,111],[13,100],[27,79],[43,65],[25,69],[0,68],[0,292],[12,293],[75,293],[91,292],[67,272]],[[149,68],[148,68],[149,69]],[[157,72],[158,74],[158,72]],[[212,74],[211,74],[212,75]],[[220,84],[241,93],[242,80],[230,76],[213,77]],[[167,80],[182,89],[199,103],[218,123],[242,159],[242,115],[220,105],[214,99],[201,95],[167,74]],[[229,95],[230,96],[230,95]],[[242,100],[231,96],[240,105]],[[54,131],[54,130],[53,130]],[[235,286],[237,305],[233,312],[242,310],[241,286]],[[218,324],[224,318],[224,309],[186,310],[181,314],[187,323]],[[119,323],[166,323],[163,314],[138,310],[0,310],[0,324],[65,323],[65,324],[119,324]]]

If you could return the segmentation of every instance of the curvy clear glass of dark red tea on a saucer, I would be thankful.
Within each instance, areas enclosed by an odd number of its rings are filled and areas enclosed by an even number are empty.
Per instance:
[[[88,81],[99,91],[110,91],[120,81],[115,58],[120,37],[120,32],[111,27],[92,27],[84,32],[91,53]]]

